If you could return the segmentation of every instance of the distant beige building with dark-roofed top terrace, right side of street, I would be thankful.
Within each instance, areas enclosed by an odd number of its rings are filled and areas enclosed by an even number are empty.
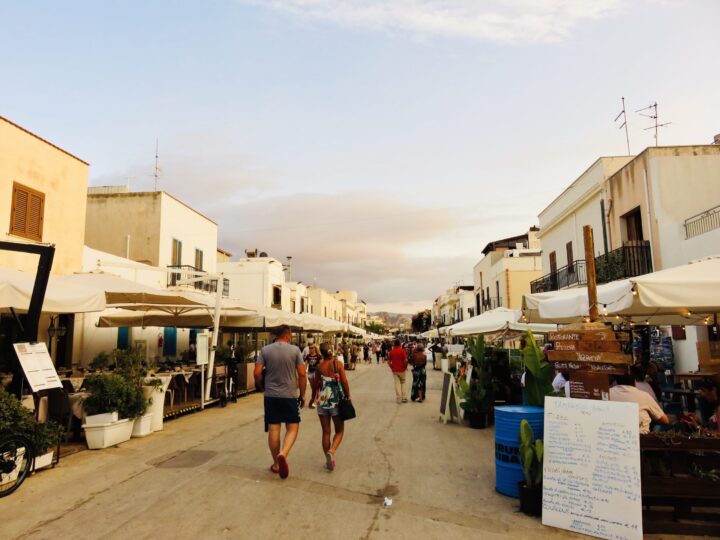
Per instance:
[[[473,268],[475,313],[498,307],[520,309],[530,282],[542,276],[540,240],[536,227],[519,236],[488,243]]]

